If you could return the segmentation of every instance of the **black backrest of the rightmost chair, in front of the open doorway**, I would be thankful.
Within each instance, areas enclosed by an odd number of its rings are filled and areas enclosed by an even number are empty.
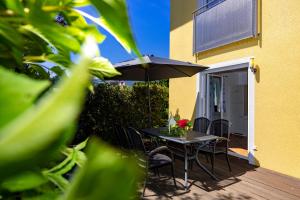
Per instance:
[[[229,139],[229,121],[226,119],[217,119],[212,121],[210,134],[225,137]]]

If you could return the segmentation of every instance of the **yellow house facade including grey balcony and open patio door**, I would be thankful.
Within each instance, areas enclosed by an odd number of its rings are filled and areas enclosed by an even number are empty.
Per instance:
[[[300,178],[299,0],[171,0],[170,112],[230,121],[232,155]]]

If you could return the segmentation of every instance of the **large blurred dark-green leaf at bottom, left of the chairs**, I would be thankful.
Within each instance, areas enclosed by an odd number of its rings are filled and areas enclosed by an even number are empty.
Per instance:
[[[96,140],[88,146],[87,157],[63,199],[132,199],[140,175],[135,160]],[[101,189],[91,190],[95,185]]]

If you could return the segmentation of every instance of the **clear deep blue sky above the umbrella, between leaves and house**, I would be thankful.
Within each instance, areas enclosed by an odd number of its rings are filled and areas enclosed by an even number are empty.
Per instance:
[[[127,6],[132,31],[141,53],[169,57],[170,1],[127,0]],[[91,8],[82,10],[96,16]],[[133,58],[109,33],[100,30],[107,36],[100,46],[102,56],[112,63]]]

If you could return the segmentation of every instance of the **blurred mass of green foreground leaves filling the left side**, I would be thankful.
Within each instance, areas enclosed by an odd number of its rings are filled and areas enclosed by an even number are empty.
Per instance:
[[[136,196],[140,173],[130,156],[95,139],[67,147],[91,76],[118,74],[101,57],[105,36],[77,11],[82,5],[95,6],[96,24],[139,55],[124,0],[0,2],[0,198]]]

